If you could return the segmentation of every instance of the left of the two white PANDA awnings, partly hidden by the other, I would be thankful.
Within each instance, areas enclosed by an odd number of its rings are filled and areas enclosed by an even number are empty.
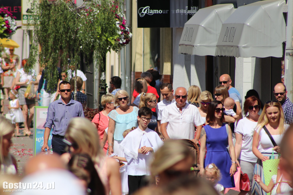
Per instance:
[[[178,53],[214,56],[222,23],[234,10],[233,4],[199,9],[184,25]]]

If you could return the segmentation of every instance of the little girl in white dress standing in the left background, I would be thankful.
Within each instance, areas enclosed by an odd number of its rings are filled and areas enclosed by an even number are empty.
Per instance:
[[[15,123],[15,130],[16,130],[15,136],[21,136],[21,134],[19,133],[19,123],[24,121],[24,117],[21,112],[21,108],[19,106],[19,100],[17,97],[18,97],[17,91],[14,89],[10,90],[9,98],[11,100],[9,101],[8,109],[10,110],[9,113],[10,113],[11,121]]]

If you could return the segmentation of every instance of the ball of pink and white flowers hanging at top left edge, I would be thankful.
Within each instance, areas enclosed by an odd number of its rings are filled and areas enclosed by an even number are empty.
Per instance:
[[[7,8],[0,8],[0,38],[8,38],[16,32],[16,17]]]

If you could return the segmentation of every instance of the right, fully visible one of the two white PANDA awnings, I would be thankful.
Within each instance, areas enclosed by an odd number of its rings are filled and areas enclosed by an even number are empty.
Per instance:
[[[216,56],[282,57],[283,5],[285,0],[265,0],[238,7],[222,24]]]

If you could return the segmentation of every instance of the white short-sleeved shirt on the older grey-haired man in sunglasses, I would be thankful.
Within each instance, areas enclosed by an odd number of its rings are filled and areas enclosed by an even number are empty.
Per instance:
[[[166,122],[171,139],[194,139],[195,126],[204,124],[198,108],[188,103],[182,108],[182,113],[176,103],[166,106],[162,112],[161,124]]]

